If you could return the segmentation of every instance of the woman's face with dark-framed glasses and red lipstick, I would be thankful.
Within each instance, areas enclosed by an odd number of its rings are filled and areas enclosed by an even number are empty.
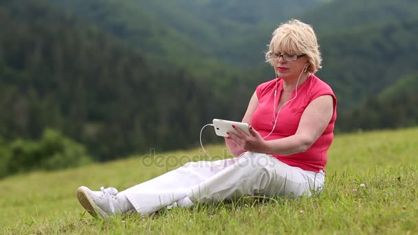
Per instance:
[[[304,54],[287,54],[286,52],[274,52],[271,56],[273,66],[278,77],[298,79],[300,73],[309,67],[308,58]]]

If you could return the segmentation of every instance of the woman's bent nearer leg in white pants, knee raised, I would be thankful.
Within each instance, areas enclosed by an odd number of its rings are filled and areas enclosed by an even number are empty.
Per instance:
[[[311,196],[311,190],[320,190],[324,180],[323,172],[316,174],[288,166],[270,155],[245,153],[234,164],[189,190],[187,197],[205,203],[242,195]]]

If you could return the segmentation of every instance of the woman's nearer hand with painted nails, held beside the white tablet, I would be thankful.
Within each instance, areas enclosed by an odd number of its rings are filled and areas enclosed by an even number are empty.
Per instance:
[[[254,153],[267,153],[265,140],[252,126],[250,126],[250,135],[238,126],[232,125],[232,127],[236,133],[228,132],[229,138],[241,146],[241,148]]]

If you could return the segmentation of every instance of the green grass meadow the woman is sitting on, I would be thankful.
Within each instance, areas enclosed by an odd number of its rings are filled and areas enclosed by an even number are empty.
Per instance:
[[[417,234],[417,146],[418,128],[339,135],[329,153],[326,189],[318,197],[244,197],[144,218],[94,220],[78,205],[76,188],[123,190],[199,159],[199,148],[164,153],[166,164],[158,166],[151,157],[131,157],[17,175],[0,181],[0,234]],[[224,154],[223,146],[207,150]]]

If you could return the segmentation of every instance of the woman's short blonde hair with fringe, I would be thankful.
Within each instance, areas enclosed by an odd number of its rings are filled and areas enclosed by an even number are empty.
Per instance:
[[[272,41],[267,45],[268,51],[265,53],[265,60],[270,65],[274,64],[269,55],[281,52],[281,54],[291,55],[306,54],[309,63],[308,71],[312,74],[322,68],[318,41],[311,25],[291,19],[279,25],[272,35]]]

